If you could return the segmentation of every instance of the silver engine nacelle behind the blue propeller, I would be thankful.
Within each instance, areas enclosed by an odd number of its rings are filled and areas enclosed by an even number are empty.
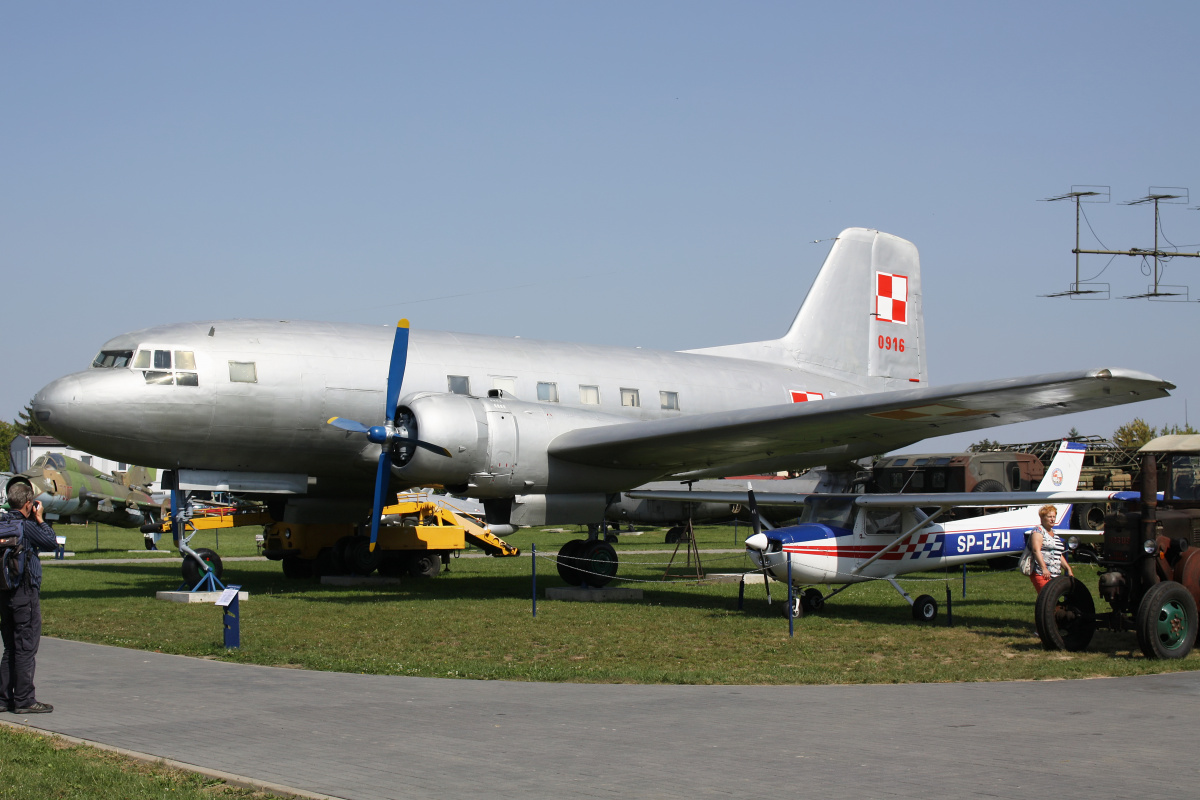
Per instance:
[[[401,399],[408,435],[440,445],[451,457],[414,447],[396,458],[392,474],[409,486],[444,486],[473,498],[631,488],[653,474],[583,467],[551,459],[550,443],[568,431],[629,422],[511,397],[420,392]]]

